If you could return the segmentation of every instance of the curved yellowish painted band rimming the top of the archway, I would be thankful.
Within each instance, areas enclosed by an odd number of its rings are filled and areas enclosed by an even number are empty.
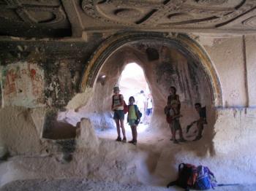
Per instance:
[[[125,32],[110,36],[101,44],[89,60],[83,72],[80,91],[83,92],[86,90],[86,87],[94,87],[102,65],[113,52],[129,42],[136,42],[138,40],[157,40],[158,42],[171,44],[173,47],[178,47],[184,54],[194,58],[206,74],[206,79],[208,80],[211,91],[212,106],[223,106],[222,88],[214,65],[211,63],[211,59],[200,44],[185,34],[170,35],[157,32]]]

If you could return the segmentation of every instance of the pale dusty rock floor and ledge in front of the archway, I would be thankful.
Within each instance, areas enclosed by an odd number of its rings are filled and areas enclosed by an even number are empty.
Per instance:
[[[126,130],[129,140],[129,127]],[[176,179],[176,163],[193,163],[187,153],[182,155],[191,141],[173,144],[167,128],[159,133],[139,125],[138,133],[138,145],[134,146],[114,141],[116,129],[98,129],[97,151],[77,150],[70,163],[61,162],[61,153],[10,157],[7,162],[0,163],[1,190],[182,190],[165,186]],[[223,180],[223,172],[216,171],[217,164],[210,161],[206,157],[201,164],[214,171],[219,183],[235,183]],[[233,176],[233,172],[230,173]],[[216,190],[256,190],[256,185],[218,187]]]

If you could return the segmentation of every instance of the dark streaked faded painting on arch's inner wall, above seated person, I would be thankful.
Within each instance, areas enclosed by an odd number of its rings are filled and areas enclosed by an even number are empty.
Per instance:
[[[175,86],[184,104],[194,106],[197,102],[206,102],[206,98],[200,93],[207,88],[203,83],[206,78],[197,67],[197,64],[187,60],[176,50],[162,47],[155,70],[157,83],[166,93],[171,85]]]

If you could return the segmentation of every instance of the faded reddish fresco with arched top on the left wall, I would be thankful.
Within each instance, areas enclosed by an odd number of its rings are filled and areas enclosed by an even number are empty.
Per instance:
[[[19,62],[1,70],[4,106],[44,106],[44,71],[34,63]]]

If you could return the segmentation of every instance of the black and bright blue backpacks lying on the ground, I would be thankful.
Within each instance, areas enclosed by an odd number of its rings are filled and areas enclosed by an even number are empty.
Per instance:
[[[178,179],[167,184],[167,187],[177,185],[185,190],[190,188],[195,190],[208,190],[217,187],[214,174],[208,167],[181,163],[178,165]]]

